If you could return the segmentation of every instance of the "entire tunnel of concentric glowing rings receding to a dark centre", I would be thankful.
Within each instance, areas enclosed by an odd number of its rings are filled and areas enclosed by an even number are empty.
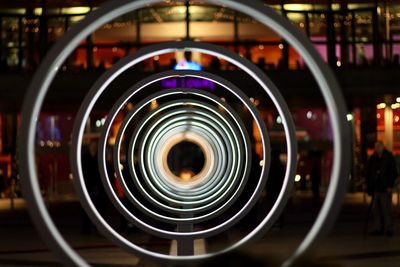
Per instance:
[[[22,189],[42,237],[68,266],[89,265],[62,237],[38,193],[34,164],[36,118],[55,75],[82,39],[106,22],[159,2],[117,0],[93,11],[52,47],[28,89],[19,137],[19,147],[24,148],[19,158]],[[329,110],[335,153],[330,187],[312,229],[283,265],[290,266],[329,230],[327,222],[335,218],[344,194],[350,145],[339,85],[307,37],[272,9],[257,1],[207,2],[243,12],[278,32],[304,58]],[[118,79],[129,78],[130,70],[143,61],[177,52],[204,54],[228,62],[246,77],[249,87],[258,88],[262,104],[279,115],[286,166],[276,201],[268,209],[259,212],[259,200],[269,179],[273,147],[257,103],[247,94],[248,88],[238,88],[212,71],[163,70],[145,78],[134,77],[135,82],[127,88],[113,92],[114,96],[120,94],[111,102],[106,97],[115,90]],[[174,88],[160,86],[166,80],[190,79],[213,87],[205,90],[184,82],[177,82]],[[96,147],[99,183],[108,201],[128,223],[155,239],[167,240],[168,247],[172,242],[169,251],[141,246],[141,242],[120,233],[109,218],[102,216],[91,197],[82,148],[87,122],[99,105],[107,107]],[[104,71],[77,109],[68,152],[79,201],[101,234],[128,252],[170,263],[209,259],[262,237],[290,197],[297,163],[296,128],[290,109],[266,73],[226,48],[193,41],[143,47]],[[247,227],[241,231],[243,224]],[[215,238],[223,237],[228,230],[235,232],[233,240],[215,245]],[[196,250],[199,240],[206,240],[200,252]]]

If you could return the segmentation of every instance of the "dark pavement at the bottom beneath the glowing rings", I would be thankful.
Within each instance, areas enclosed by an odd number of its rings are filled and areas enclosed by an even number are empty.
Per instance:
[[[347,194],[332,231],[310,251],[310,263],[302,266],[400,266],[400,207],[397,196],[393,199],[393,237],[365,234],[368,201],[369,198],[362,193]],[[73,198],[50,201],[48,208],[63,236],[92,266],[162,266],[123,251],[97,231],[82,234],[81,210],[79,203]],[[320,205],[313,202],[309,192],[296,192],[285,210],[283,226],[272,228],[264,238],[246,246],[242,253],[268,261],[268,266],[279,266],[283,259],[295,251],[307,234],[319,208]],[[110,214],[110,223],[117,225],[118,216]],[[371,230],[371,224],[372,222],[368,224],[367,232]],[[241,228],[229,230],[215,243],[232,242],[245,232]],[[151,238],[134,228],[126,236],[148,249],[164,253],[173,250],[169,241]],[[214,241],[207,240],[199,244],[209,244],[212,247]],[[23,199],[14,200],[13,209],[10,200],[0,199],[0,267],[6,266],[62,266],[39,237]],[[225,266],[230,265],[226,263]]]

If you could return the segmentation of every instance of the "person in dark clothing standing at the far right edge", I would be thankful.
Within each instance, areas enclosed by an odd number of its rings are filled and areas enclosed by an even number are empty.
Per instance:
[[[397,178],[397,166],[392,153],[381,141],[375,143],[375,152],[368,159],[366,176],[375,227],[371,234],[392,236],[392,188]]]

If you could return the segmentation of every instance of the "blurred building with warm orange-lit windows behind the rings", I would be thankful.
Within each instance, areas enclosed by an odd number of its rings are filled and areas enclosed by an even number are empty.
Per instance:
[[[0,174],[2,195],[18,192],[16,138],[20,108],[29,81],[46,52],[66,31],[96,9],[101,0],[18,0],[0,2]],[[353,169],[349,190],[363,191],[363,166],[375,140],[400,154],[400,1],[264,0],[303,31],[321,57],[334,69],[353,126]],[[103,25],[88,36],[65,62],[39,118],[38,164],[48,196],[72,190],[68,142],[73,104],[100,73],[140,47],[165,41],[204,41],[248,58],[278,85],[291,107],[300,144],[299,188],[310,188],[307,155],[319,155],[322,184],[332,161],[332,135],[325,104],[301,55],[280,36],[238,12],[198,1],[165,1]],[[172,69],[183,53],[147,60],[132,70],[138,77]],[[193,54],[204,70],[234,80],[259,106],[275,137],[283,140],[282,120],[263,99],[241,81],[240,73],[224,60]],[[288,79],[287,77],[291,77]],[[163,86],[171,85],[166,82]],[[212,85],[204,85],[205,87]],[[211,88],[210,87],[210,88]],[[210,89],[209,88],[209,89]],[[87,134],[96,135],[105,112],[91,117]],[[254,136],[257,140],[257,137]],[[302,182],[303,181],[303,182]]]

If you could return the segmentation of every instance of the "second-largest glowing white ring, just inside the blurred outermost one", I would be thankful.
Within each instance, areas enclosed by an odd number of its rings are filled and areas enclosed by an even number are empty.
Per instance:
[[[276,108],[278,109],[278,112],[279,112],[280,116],[282,117],[283,126],[284,126],[286,132],[288,133],[286,136],[288,164],[287,164],[287,168],[286,168],[287,170],[286,170],[286,174],[285,174],[285,178],[284,178],[284,182],[283,182],[283,187],[282,187],[282,190],[280,193],[281,197],[284,198],[284,200],[277,201],[275,203],[275,206],[272,208],[272,211],[270,213],[268,213],[268,215],[265,218],[263,230],[269,229],[273,225],[274,220],[277,218],[277,216],[279,216],[280,211],[283,209],[283,207],[286,204],[286,201],[288,200],[288,198],[290,196],[290,192],[291,192],[291,188],[292,188],[292,185],[294,182],[294,176],[295,176],[294,174],[295,174],[295,169],[296,169],[296,155],[297,155],[296,147],[297,146],[296,146],[295,130],[294,130],[294,126],[293,126],[294,124],[292,122],[289,109],[286,106],[282,96],[279,94],[279,91],[274,87],[274,84],[265,76],[265,74],[261,70],[259,70],[257,67],[255,67],[252,63],[250,63],[249,61],[243,59],[242,57],[240,57],[236,54],[231,53],[230,51],[228,51],[222,47],[213,46],[213,45],[204,44],[204,43],[196,43],[196,42],[164,43],[164,44],[160,44],[160,45],[146,47],[146,48],[138,51],[135,55],[127,56],[126,58],[123,58],[122,60],[117,62],[117,64],[115,64],[109,71],[104,73],[104,75],[99,78],[99,80],[95,83],[95,85],[89,91],[88,95],[86,96],[86,98],[84,100],[84,103],[82,104],[82,106],[80,108],[80,112],[78,112],[78,116],[76,118],[77,123],[75,124],[73,134],[72,134],[72,136],[73,136],[72,151],[74,151],[74,153],[71,155],[75,155],[75,156],[71,157],[71,160],[72,160],[72,163],[74,164],[73,171],[76,174],[76,176],[78,176],[78,179],[76,179],[74,181],[75,181],[75,185],[77,187],[77,192],[80,195],[80,200],[83,203],[83,206],[87,207],[91,203],[91,200],[90,200],[90,198],[87,197],[87,194],[82,193],[82,190],[83,191],[86,190],[85,185],[83,183],[83,177],[81,176],[81,171],[80,171],[80,168],[81,168],[81,166],[80,166],[81,165],[80,164],[80,154],[81,154],[80,153],[80,149],[81,149],[80,142],[81,141],[80,140],[82,139],[83,130],[84,130],[84,124],[82,122],[87,120],[88,115],[91,112],[91,108],[93,107],[94,103],[97,101],[100,94],[107,88],[108,84],[110,84],[113,79],[118,77],[119,74],[123,73],[123,71],[134,66],[138,62],[141,62],[142,60],[151,58],[156,55],[161,55],[164,53],[175,51],[176,49],[200,51],[205,54],[210,54],[213,56],[223,58],[223,59],[227,60],[228,62],[231,62],[232,64],[241,67],[245,72],[247,72],[256,81],[259,82],[260,86],[262,86],[266,90],[266,92],[270,95],[273,102],[275,102]],[[200,78],[204,78],[203,77],[204,75],[200,75],[200,73],[198,73],[198,74],[196,74],[196,72],[192,72],[192,73],[193,73],[192,74],[193,77],[197,76]],[[115,75],[115,74],[118,74],[118,75]],[[263,79],[260,79],[259,77],[263,77]],[[165,79],[165,78],[168,78],[168,76],[164,75],[162,77],[162,79]],[[223,83],[219,82],[220,79],[221,79],[220,77],[214,76],[214,79],[212,79],[212,80],[213,81],[215,80],[215,82],[217,84],[224,86]],[[148,81],[147,83],[155,82],[155,81],[157,81],[157,80],[154,79],[153,81]],[[145,84],[145,85],[147,85],[147,84]],[[140,87],[140,89],[145,87],[145,85]],[[242,99],[242,101],[243,101],[243,98],[247,98],[247,96],[241,97],[239,94],[240,91],[239,92],[232,91],[232,88],[230,88],[230,87],[226,87],[226,89],[230,90],[232,94],[234,94],[236,97],[238,97],[238,99]],[[247,105],[246,103],[244,103],[244,104]],[[253,109],[252,106],[253,105],[247,106],[247,109],[251,113],[252,113],[252,109]],[[254,115],[255,114],[253,114],[253,116]],[[260,125],[258,125],[258,127],[260,127]],[[265,136],[261,136],[261,137],[262,137],[263,146],[265,147]],[[103,149],[103,151],[101,151],[100,154],[104,155],[105,154],[104,145],[100,145],[100,149]],[[264,149],[264,157],[263,157],[264,162],[266,162],[266,158],[267,158],[265,153],[267,153],[267,151]],[[102,162],[100,162],[100,169],[103,169],[104,166],[106,165],[106,162],[105,162],[104,157],[103,157],[103,159],[101,159],[101,158],[102,158],[102,156],[99,155],[99,159],[103,160]],[[74,169],[75,167],[78,169]],[[107,173],[104,170],[102,170],[101,174],[105,175],[105,177],[107,177]],[[223,223],[221,223],[220,225],[218,225],[216,227],[209,228],[207,230],[202,230],[202,231],[197,231],[197,232],[192,232],[192,233],[175,233],[175,232],[170,232],[170,231],[163,231],[161,229],[151,227],[148,224],[146,224],[145,227],[143,225],[138,225],[138,223],[140,224],[140,221],[135,220],[134,216],[132,216],[132,218],[136,221],[136,225],[139,226],[139,228],[141,228],[142,230],[151,232],[152,234],[158,235],[161,237],[177,238],[177,239],[179,239],[179,237],[182,237],[182,238],[184,238],[184,237],[192,237],[192,238],[208,237],[208,236],[214,235],[215,233],[218,233],[218,232],[225,230],[228,227],[232,226],[234,223],[236,223],[241,218],[241,216],[244,216],[245,213],[247,213],[249,211],[249,209],[254,205],[254,203],[260,197],[262,188],[265,187],[266,176],[267,176],[266,165],[264,165],[263,169],[261,171],[262,179],[258,181],[256,190],[253,192],[252,196],[250,197],[250,200],[241,208],[241,210],[238,213],[233,215],[230,219],[224,221]],[[112,187],[109,183],[109,179],[107,179],[105,177],[102,177],[102,178],[103,178],[103,182],[105,181],[106,191],[109,193],[110,190],[108,190],[108,188],[112,188]],[[111,195],[110,199],[112,201],[116,200],[118,202],[115,192],[111,192],[111,194],[112,195]],[[116,207],[118,208],[118,205]],[[122,208],[122,210],[126,211],[126,208]],[[146,211],[148,212],[149,210],[146,210]],[[121,246],[126,245],[120,239],[121,236],[118,233],[106,232],[106,230],[103,228],[103,227],[105,227],[105,225],[100,224],[101,220],[100,220],[99,214],[97,213],[96,210],[86,209],[86,212],[89,214],[89,217],[97,223],[97,227],[99,228],[100,231],[103,232],[103,234],[105,234],[112,241],[116,242],[117,244],[119,244]],[[157,214],[153,213],[153,215],[157,215]],[[159,216],[159,217],[161,217],[161,216]],[[198,219],[202,219],[202,217],[199,216]],[[182,218],[181,220],[182,221],[187,220],[188,222],[191,222],[191,220],[189,218]],[[253,231],[247,237],[249,237],[249,236],[254,237],[256,232]],[[244,239],[246,239],[246,237]],[[241,242],[242,241],[239,241],[237,243],[241,243]],[[134,246],[135,246],[134,244],[128,244],[128,246],[126,246],[124,248],[127,250],[134,251],[135,250]],[[231,246],[231,247],[234,247],[234,246]],[[151,254],[155,255],[154,257],[160,255],[160,254],[153,253],[153,252]],[[162,255],[162,257],[166,257],[166,256]],[[196,256],[196,257],[198,257],[198,256]],[[196,257],[194,257],[193,259],[195,259]]]

